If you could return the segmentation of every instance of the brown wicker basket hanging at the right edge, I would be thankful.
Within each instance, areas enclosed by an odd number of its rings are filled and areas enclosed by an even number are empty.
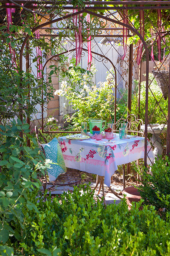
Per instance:
[[[152,71],[155,80],[163,94],[164,100],[168,98],[168,87],[169,87],[169,72],[165,70]]]

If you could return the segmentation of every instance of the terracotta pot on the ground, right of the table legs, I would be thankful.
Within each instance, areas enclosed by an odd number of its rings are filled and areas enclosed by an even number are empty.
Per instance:
[[[139,186],[137,186],[139,187]],[[130,186],[130,187],[125,187],[123,190],[122,190],[122,194],[123,195],[126,195],[125,196],[125,199],[126,199],[126,202],[128,204],[128,209],[130,210],[131,209],[131,206],[132,206],[132,202],[139,202],[140,199],[142,198],[140,196],[140,192],[138,191],[138,189],[134,186]],[[142,209],[142,207],[141,207]]]

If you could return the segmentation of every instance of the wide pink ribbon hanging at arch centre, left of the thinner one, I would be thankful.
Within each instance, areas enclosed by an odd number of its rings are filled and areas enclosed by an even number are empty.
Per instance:
[[[77,12],[77,10],[73,10],[73,13]],[[74,24],[74,33],[75,33],[75,51],[76,51],[76,62],[75,65],[79,64],[82,54],[82,47],[83,47],[83,38],[82,38],[82,23],[81,23],[81,16],[79,14],[79,29],[77,31],[77,15],[73,16],[73,24]]]

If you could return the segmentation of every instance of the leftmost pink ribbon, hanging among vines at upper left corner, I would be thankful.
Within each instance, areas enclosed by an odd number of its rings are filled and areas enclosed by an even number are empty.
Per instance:
[[[6,3],[6,5],[14,5],[13,3]],[[10,33],[10,25],[12,25],[12,12],[15,12],[15,8],[6,8],[6,17],[7,17],[7,31],[8,33]],[[12,38],[11,35],[9,36],[9,38]],[[18,67],[16,64],[16,57],[15,57],[15,50],[12,49],[11,47],[11,43],[8,43],[9,45],[9,50],[10,50],[10,54],[11,54],[11,61],[12,61],[12,66],[14,67],[14,69],[17,70],[18,73]]]

